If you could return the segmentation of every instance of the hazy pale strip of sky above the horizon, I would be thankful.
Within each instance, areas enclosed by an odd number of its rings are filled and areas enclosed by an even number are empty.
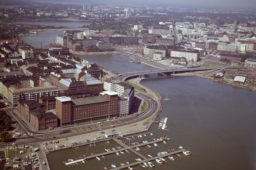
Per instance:
[[[35,0],[42,2],[42,0]],[[96,3],[104,5],[145,5],[145,6],[184,6],[210,8],[236,8],[256,10],[256,0],[43,0],[63,3]],[[156,3],[157,2],[157,3]]]

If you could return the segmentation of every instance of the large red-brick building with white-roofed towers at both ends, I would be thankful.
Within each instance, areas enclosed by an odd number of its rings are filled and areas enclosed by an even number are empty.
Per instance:
[[[117,116],[118,94],[113,91],[104,93],[81,99],[56,97],[56,115],[61,125]]]

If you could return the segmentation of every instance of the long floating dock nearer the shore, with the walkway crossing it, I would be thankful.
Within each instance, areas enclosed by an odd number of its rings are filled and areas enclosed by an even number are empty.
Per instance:
[[[144,159],[144,161],[145,161],[147,158],[145,156],[143,156],[142,154],[138,153],[137,151],[135,151],[133,148],[134,147],[145,146],[145,145],[148,145],[148,144],[154,144],[154,143],[157,143],[157,142],[163,142],[164,140],[152,141],[152,142],[148,142],[148,143],[137,144],[137,145],[130,146],[130,147],[127,146],[126,144],[123,144],[122,142],[119,142],[119,140],[116,139],[116,138],[113,138],[113,141],[116,142],[117,144],[119,144],[120,146],[124,147],[124,148],[121,148],[121,149],[118,149],[118,150],[111,150],[110,152],[99,153],[99,154],[87,156],[87,157],[85,157],[83,159],[78,159],[78,160],[75,160],[75,161],[67,162],[67,163],[65,163],[65,165],[77,163],[77,162],[80,162],[80,161],[85,161],[87,159],[93,159],[93,158],[100,157],[100,156],[105,156],[105,155],[108,155],[108,154],[111,154],[111,153],[120,152],[120,151],[123,151],[123,150],[130,150],[132,153],[136,154],[137,156],[139,156],[140,158]]]

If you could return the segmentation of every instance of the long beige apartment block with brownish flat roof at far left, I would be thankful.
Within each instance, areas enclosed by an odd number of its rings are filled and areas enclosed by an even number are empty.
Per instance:
[[[34,88],[8,88],[8,102],[12,106],[17,105],[18,100],[35,100],[38,101],[39,97],[53,96],[58,94],[61,90],[54,85],[39,86]]]

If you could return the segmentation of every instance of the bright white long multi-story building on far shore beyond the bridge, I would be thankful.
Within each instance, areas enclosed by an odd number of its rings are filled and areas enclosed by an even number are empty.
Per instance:
[[[197,62],[199,51],[190,48],[175,47],[170,49],[170,57],[185,57],[186,61]]]

